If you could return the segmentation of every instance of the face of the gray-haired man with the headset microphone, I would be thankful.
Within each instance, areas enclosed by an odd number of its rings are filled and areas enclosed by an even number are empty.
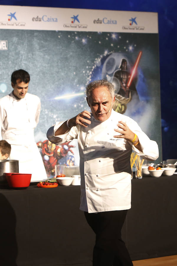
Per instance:
[[[91,96],[87,98],[87,103],[94,118],[101,122],[110,117],[114,101],[115,96],[112,99],[109,90],[104,86],[92,90]]]

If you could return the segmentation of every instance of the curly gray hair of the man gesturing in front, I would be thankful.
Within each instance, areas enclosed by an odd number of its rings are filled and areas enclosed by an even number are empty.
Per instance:
[[[114,85],[107,80],[94,80],[91,83],[89,83],[89,85],[87,85],[87,87],[86,87],[87,98],[89,98],[91,96],[92,90],[94,90],[100,86],[106,87],[111,94],[111,98],[112,99],[114,98],[114,95],[115,95]]]

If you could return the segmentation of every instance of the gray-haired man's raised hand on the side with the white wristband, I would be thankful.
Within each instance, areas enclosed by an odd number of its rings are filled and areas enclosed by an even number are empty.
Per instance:
[[[79,113],[77,116],[71,118],[68,122],[69,126],[76,126],[76,125],[81,125],[84,127],[88,127],[88,125],[91,124],[91,121],[86,119],[86,118],[91,118],[91,113],[89,111],[82,111]],[[86,123],[86,124],[84,124]],[[88,124],[88,125],[87,125]]]

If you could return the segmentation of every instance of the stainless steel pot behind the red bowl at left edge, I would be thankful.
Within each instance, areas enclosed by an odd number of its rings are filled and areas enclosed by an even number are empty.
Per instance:
[[[7,180],[4,173],[18,173],[18,160],[0,160],[0,184],[6,184]]]

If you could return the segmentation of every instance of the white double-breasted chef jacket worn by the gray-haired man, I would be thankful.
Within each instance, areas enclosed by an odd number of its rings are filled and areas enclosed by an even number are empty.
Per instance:
[[[85,128],[73,126],[68,133],[54,136],[63,122],[56,122],[47,132],[47,138],[59,145],[78,139],[81,174],[80,209],[89,213],[127,210],[131,207],[131,168],[132,149],[149,160],[158,158],[158,145],[142,132],[138,124],[112,110],[106,121],[100,122],[91,115],[91,124]],[[126,122],[136,133],[142,152],[131,142],[114,135],[118,121]]]

